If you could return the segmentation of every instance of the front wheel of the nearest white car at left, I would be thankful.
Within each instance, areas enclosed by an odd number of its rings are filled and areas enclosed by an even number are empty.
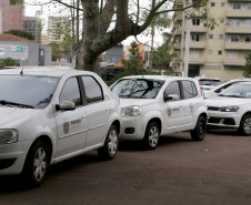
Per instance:
[[[38,187],[42,184],[48,167],[48,150],[42,141],[36,142],[30,148],[22,170],[26,185]]]

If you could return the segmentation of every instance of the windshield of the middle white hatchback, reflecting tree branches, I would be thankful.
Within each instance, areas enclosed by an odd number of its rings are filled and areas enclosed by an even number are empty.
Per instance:
[[[154,99],[163,84],[160,80],[123,79],[111,90],[122,99]]]

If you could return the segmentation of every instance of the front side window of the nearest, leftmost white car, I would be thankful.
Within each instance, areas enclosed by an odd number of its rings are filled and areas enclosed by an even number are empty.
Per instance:
[[[62,101],[71,101],[76,103],[76,106],[81,105],[80,90],[77,78],[70,78],[63,85],[62,92],[59,98],[60,104]]]

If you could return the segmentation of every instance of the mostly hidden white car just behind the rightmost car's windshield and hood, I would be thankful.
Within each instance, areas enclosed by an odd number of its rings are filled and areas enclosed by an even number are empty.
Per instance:
[[[224,89],[229,88],[232,84],[239,83],[239,82],[251,82],[251,78],[233,79],[233,80],[230,80],[230,81],[224,82],[222,84],[219,84],[211,90],[208,90],[208,91],[205,90],[204,91],[204,98],[208,99],[208,98],[217,96]]]

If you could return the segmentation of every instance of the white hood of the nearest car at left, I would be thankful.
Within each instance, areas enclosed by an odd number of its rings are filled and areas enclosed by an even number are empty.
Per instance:
[[[14,129],[41,110],[0,106],[0,129]]]

